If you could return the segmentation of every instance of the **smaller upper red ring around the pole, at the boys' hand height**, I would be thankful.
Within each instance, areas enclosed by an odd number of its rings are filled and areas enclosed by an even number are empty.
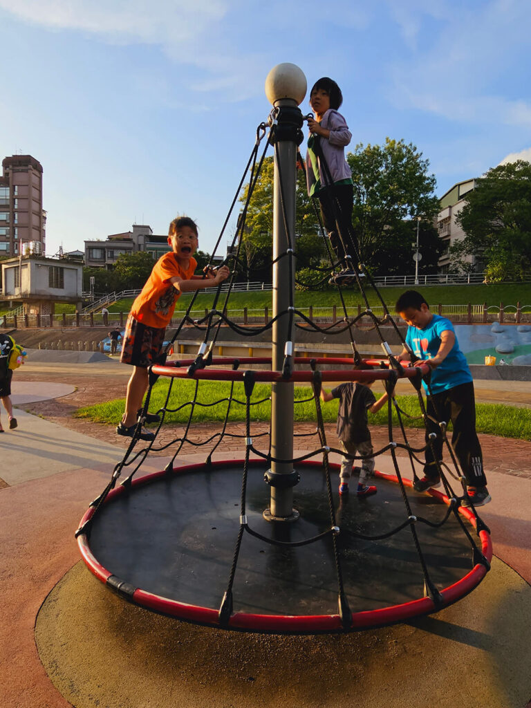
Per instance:
[[[154,364],[152,367],[153,373],[159,376],[169,376],[177,377],[181,379],[206,379],[210,381],[243,381],[245,370],[240,369],[212,369],[212,366],[224,366],[233,364],[238,361],[242,365],[246,364],[270,364],[270,357],[214,357],[212,362],[208,367],[204,369],[197,369],[193,373],[188,373],[188,367],[195,363],[195,359],[183,359],[181,361],[169,362],[164,365]],[[333,364],[333,365],[345,365],[352,367],[353,360],[348,358],[307,358],[307,357],[294,357],[293,362],[295,364],[307,364],[309,366],[310,362],[314,361],[317,364]],[[381,360],[378,359],[365,359],[363,363],[368,366],[380,366]],[[418,367],[402,367],[402,371],[397,371],[399,378],[414,379],[418,376],[418,370],[421,370],[422,374],[425,375],[429,371],[429,367],[423,364]],[[392,369],[372,369],[372,370],[346,370],[346,371],[326,371],[319,370],[321,374],[321,379],[323,381],[367,381],[374,379],[387,379],[389,378],[390,372],[396,371]],[[314,377],[313,371],[294,371],[292,375],[287,378],[282,375],[281,371],[266,371],[260,369],[253,369],[253,376],[255,381],[261,382],[312,382]]]

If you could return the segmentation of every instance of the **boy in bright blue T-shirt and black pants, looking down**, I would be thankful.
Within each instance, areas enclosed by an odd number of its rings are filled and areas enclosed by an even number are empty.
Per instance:
[[[417,491],[426,491],[439,486],[440,475],[437,462],[433,457],[432,445],[437,460],[442,460],[442,437],[438,421],[452,421],[452,447],[459,460],[462,472],[467,479],[468,499],[463,506],[483,506],[491,501],[486,488],[483,469],[483,455],[476,434],[476,405],[474,383],[467,360],[459,349],[455,331],[449,319],[430,312],[426,299],[416,290],[407,290],[396,301],[396,312],[409,325],[406,344],[401,358],[416,356],[414,366],[427,364],[431,371],[430,389],[426,389],[426,464],[423,479],[414,484]],[[437,438],[429,444],[428,435],[435,433]]]

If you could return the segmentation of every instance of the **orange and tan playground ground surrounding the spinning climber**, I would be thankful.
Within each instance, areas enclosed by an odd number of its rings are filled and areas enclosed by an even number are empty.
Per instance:
[[[530,705],[531,442],[481,438],[493,501],[480,513],[495,558],[456,605],[348,635],[219,632],[125,603],[79,561],[74,530],[124,441],[72,411],[122,396],[129,373],[115,362],[28,362],[13,379],[18,428],[0,435],[3,708]],[[476,382],[476,397],[526,405],[531,382],[516,383]],[[164,464],[154,457],[146,471]]]

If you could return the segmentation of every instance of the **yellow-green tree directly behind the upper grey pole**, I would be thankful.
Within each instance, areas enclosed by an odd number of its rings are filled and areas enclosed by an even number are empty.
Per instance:
[[[244,270],[249,270],[251,280],[270,278],[270,261],[273,256],[273,157],[266,157],[258,175],[246,213],[246,226],[241,243],[240,258]],[[240,201],[245,204],[249,184],[245,185]],[[306,176],[297,170],[295,192],[295,251],[297,270],[319,265],[326,254],[326,246],[319,234],[319,222],[308,196]]]

